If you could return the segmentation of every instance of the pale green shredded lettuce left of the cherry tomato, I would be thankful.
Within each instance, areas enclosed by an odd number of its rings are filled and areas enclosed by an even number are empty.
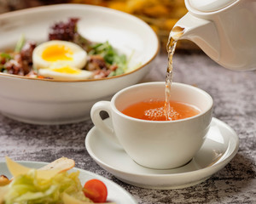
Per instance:
[[[32,169],[29,173],[15,177],[8,188],[4,195],[5,204],[60,204],[63,203],[64,193],[80,201],[90,201],[84,196],[79,171],[58,173],[53,178],[41,179],[37,177],[37,170]]]

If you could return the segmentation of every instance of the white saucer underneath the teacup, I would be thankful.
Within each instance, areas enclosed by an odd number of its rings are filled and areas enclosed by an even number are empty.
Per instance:
[[[110,119],[105,122],[110,123]],[[138,165],[96,127],[92,127],[85,138],[88,153],[102,168],[127,184],[157,190],[181,189],[205,181],[230,162],[238,145],[235,131],[212,118],[207,139],[193,160],[183,167],[155,170]]]

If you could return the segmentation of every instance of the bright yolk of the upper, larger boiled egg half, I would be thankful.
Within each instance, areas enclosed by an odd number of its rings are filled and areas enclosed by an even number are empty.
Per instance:
[[[44,49],[42,58],[46,61],[55,62],[58,60],[73,60],[73,52],[64,45],[51,45]]]

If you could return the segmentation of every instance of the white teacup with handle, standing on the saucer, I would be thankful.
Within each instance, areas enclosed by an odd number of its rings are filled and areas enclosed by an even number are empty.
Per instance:
[[[165,100],[165,82],[147,82],[120,90],[111,101],[93,105],[90,116],[95,126],[119,143],[143,167],[167,169],[181,167],[201,148],[212,120],[212,97],[200,88],[172,83],[172,100],[195,105],[201,113],[177,121],[148,121],[126,116],[127,106],[148,99]],[[113,122],[109,127],[101,111]]]

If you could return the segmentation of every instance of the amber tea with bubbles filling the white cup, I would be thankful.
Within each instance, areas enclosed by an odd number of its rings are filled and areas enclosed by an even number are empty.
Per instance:
[[[175,121],[200,113],[199,109],[193,105],[170,101],[169,113],[166,114],[165,103],[164,100],[142,101],[128,106],[122,113],[126,116],[149,121]]]

